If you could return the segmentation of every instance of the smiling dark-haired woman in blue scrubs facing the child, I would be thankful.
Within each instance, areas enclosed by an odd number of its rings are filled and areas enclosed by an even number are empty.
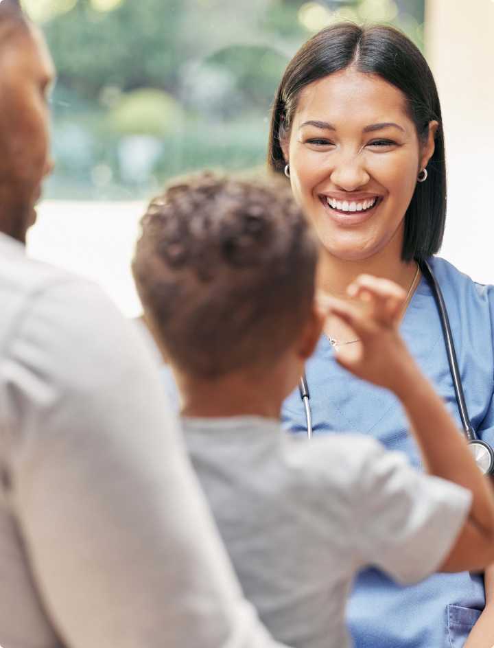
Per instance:
[[[322,243],[318,288],[351,299],[346,289],[360,273],[399,283],[408,293],[401,332],[458,416],[436,303],[419,271],[419,261],[429,262],[449,311],[473,428],[492,443],[494,294],[434,257],[445,227],[445,147],[436,84],[419,49],[391,27],[340,23],[316,34],[281,80],[268,163],[290,178]],[[357,338],[327,318],[306,368],[314,434],[366,432],[419,465],[395,397],[338,363],[362,353]],[[298,391],[283,420],[306,432]],[[355,581],[349,625],[356,648],[456,648],[484,605],[481,575],[437,575],[397,588],[370,569]]]

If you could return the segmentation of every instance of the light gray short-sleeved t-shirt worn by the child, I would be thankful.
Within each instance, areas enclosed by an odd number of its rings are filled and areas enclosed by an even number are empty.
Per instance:
[[[368,437],[308,442],[260,417],[184,418],[183,428],[246,597],[274,637],[297,648],[348,647],[355,572],[427,577],[471,506],[469,491]]]

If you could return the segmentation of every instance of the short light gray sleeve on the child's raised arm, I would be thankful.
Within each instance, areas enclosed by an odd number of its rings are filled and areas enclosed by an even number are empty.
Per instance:
[[[355,491],[362,564],[375,565],[403,584],[438,570],[471,507],[470,491],[417,472],[404,454],[387,452],[375,441]]]

